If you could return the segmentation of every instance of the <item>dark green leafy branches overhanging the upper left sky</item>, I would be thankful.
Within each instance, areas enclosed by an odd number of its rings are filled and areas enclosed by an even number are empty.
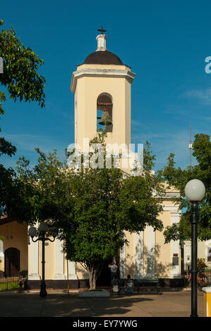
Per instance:
[[[43,107],[45,79],[37,70],[44,62],[20,42],[13,27],[0,32],[0,55],[4,59],[4,74],[0,75],[0,82],[7,87],[9,98],[14,101],[38,101]],[[5,99],[5,94],[1,92],[0,101]]]

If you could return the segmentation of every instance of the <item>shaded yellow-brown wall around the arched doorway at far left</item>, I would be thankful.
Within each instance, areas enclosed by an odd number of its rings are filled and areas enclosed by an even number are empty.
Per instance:
[[[8,248],[20,251],[20,271],[28,270],[28,225],[17,222],[1,225],[0,237],[3,237],[4,251]],[[4,258],[0,270],[4,270]]]

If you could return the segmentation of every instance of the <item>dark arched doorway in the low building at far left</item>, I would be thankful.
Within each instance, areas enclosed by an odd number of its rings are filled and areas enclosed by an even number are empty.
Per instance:
[[[7,277],[18,276],[20,273],[20,251],[8,248],[4,252],[4,271]]]

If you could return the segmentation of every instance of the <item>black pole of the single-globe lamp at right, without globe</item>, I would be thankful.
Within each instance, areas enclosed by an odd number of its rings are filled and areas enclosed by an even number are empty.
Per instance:
[[[191,202],[191,317],[197,314],[198,201]]]

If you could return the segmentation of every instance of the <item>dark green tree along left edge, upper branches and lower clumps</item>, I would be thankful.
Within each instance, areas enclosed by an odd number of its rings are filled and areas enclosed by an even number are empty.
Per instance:
[[[0,25],[3,25],[3,20],[0,20]],[[45,79],[37,71],[44,62],[32,49],[20,42],[13,27],[0,32],[0,56],[4,60],[4,73],[0,74],[0,83],[4,90],[7,89],[9,99],[37,101],[44,107]],[[6,101],[6,96],[6,92],[0,91],[0,115],[4,115],[2,102]],[[4,137],[0,137],[0,156],[2,154],[10,157],[16,154],[16,147]],[[12,168],[6,169],[0,164],[0,214],[8,213],[8,205],[11,204],[14,193],[15,175]]]

